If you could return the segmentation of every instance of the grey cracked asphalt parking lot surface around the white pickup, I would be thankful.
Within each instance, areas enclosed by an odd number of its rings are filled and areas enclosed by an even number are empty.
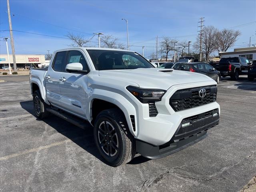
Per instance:
[[[220,124],[157,160],[106,165],[91,128],[34,116],[28,76],[0,77],[1,191],[236,192],[256,175],[256,80],[218,84]]]

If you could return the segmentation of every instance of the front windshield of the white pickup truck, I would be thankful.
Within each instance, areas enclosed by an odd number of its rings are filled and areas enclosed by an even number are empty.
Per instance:
[[[96,70],[154,68],[150,62],[134,52],[93,49],[88,49],[87,52]]]

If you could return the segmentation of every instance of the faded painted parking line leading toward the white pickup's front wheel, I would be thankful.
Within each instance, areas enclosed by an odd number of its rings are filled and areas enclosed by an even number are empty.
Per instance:
[[[43,149],[48,149],[48,148],[51,148],[51,147],[54,147],[54,146],[62,145],[64,143],[73,142],[75,140],[80,140],[82,138],[84,138],[84,137],[77,137],[77,138],[74,138],[72,140],[67,139],[67,140],[64,140],[64,141],[55,142],[55,143],[52,143],[52,144],[49,144],[49,145],[33,148],[33,149],[30,149],[30,150],[25,150],[23,152],[19,152],[19,153],[14,153],[14,154],[11,154],[11,155],[3,156],[3,157],[0,157],[0,161],[8,160],[10,158],[18,157],[18,156],[25,155],[25,154],[32,153],[32,152],[37,152],[37,151],[40,151],[40,150],[43,150]]]

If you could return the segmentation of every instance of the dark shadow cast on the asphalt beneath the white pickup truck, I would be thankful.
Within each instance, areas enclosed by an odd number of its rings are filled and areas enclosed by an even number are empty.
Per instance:
[[[36,117],[33,109],[33,101],[24,101],[20,102],[20,106]],[[54,114],[50,114],[50,116],[44,120],[40,120],[36,117],[36,120],[38,121],[44,121],[49,126],[54,128],[57,132],[64,135],[65,137],[72,140],[74,143],[76,143],[78,146],[92,154],[94,157],[98,158],[100,161],[104,162],[105,164],[108,164],[102,156],[100,156],[100,153],[98,152],[98,149],[96,145],[94,144],[94,136],[93,136],[93,127],[88,126],[86,130],[81,129],[70,122],[67,122],[63,120],[62,118],[55,116]],[[80,139],[78,139],[80,138]],[[143,162],[147,162],[150,159],[144,158],[143,156],[137,156],[135,157],[129,164],[140,164]]]

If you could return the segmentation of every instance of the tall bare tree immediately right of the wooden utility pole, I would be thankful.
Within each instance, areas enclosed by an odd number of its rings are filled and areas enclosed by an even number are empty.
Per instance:
[[[202,34],[202,53],[206,57],[206,62],[208,62],[210,54],[214,50],[216,50],[217,33],[218,33],[218,30],[214,26],[204,27],[203,34]],[[196,38],[194,48],[198,50],[200,48],[199,36]]]

